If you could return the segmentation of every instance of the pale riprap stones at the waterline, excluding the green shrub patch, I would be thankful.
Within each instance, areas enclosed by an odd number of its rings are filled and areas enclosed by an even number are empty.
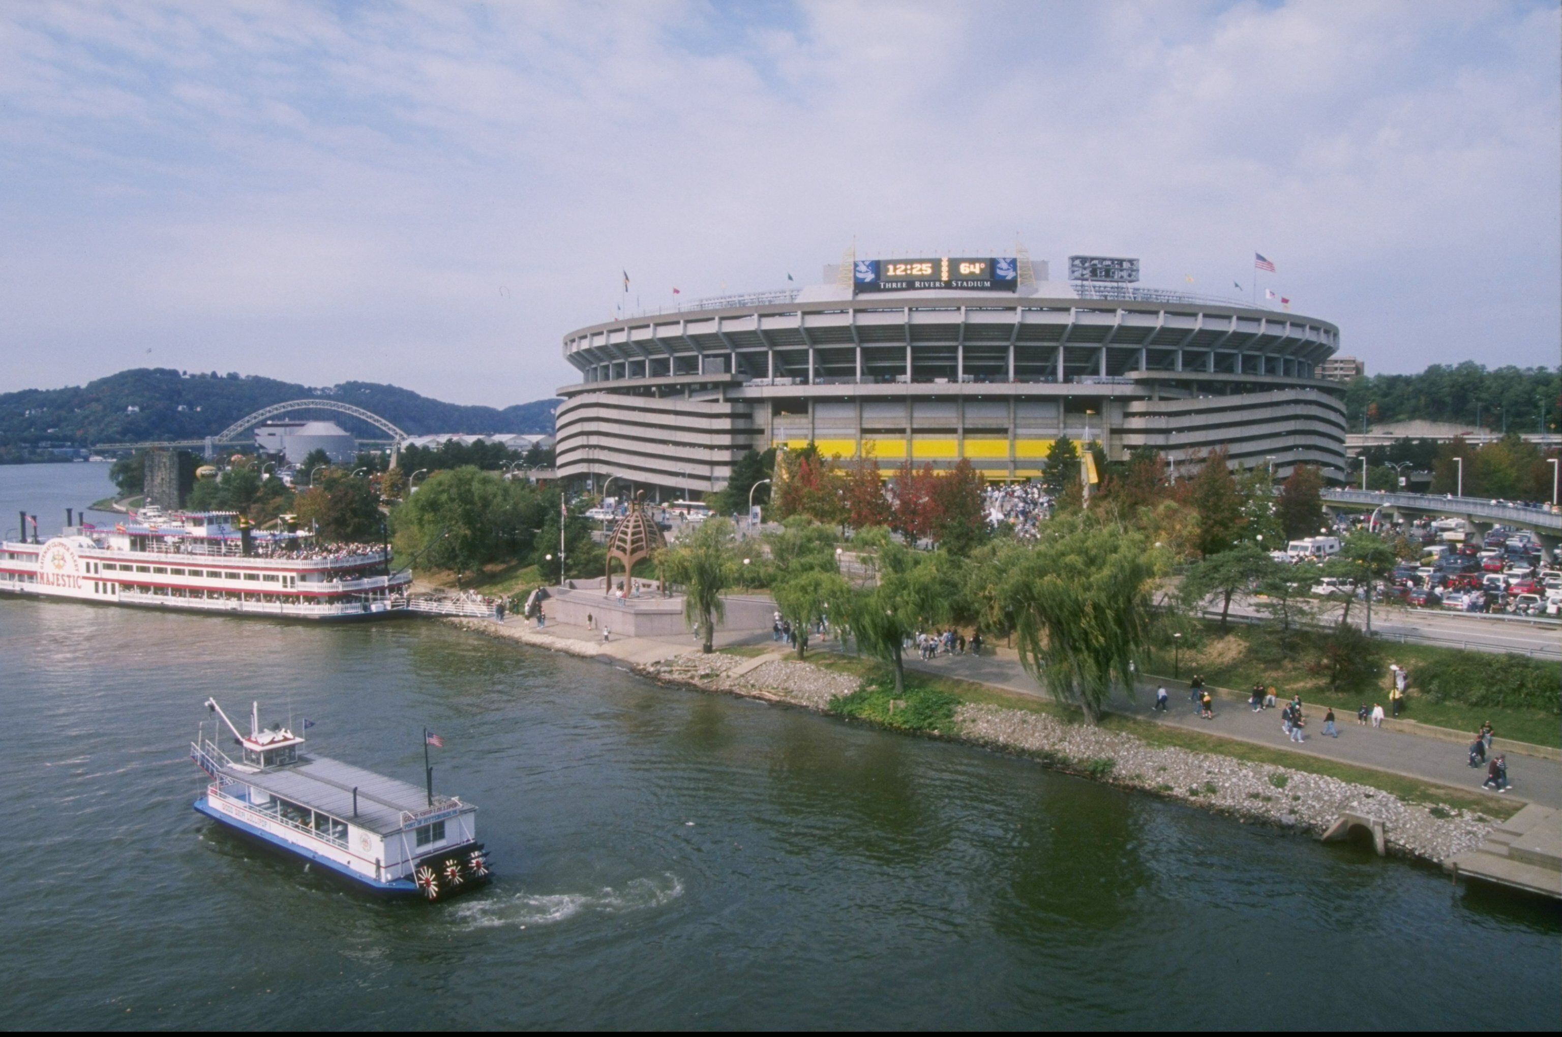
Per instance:
[[[831,698],[858,689],[856,678],[781,657],[684,654],[634,668],[658,681],[818,712],[829,711]],[[1150,745],[1122,731],[1023,709],[967,703],[958,707],[954,728],[936,737],[1032,756],[1070,773],[1307,834],[1321,834],[1342,814],[1361,814],[1382,821],[1390,853],[1432,862],[1479,845],[1495,826],[1470,811],[1406,803],[1339,778]]]

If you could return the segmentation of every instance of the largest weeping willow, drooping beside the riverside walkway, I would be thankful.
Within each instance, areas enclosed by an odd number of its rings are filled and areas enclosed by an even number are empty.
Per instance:
[[[1000,589],[1020,662],[1059,703],[1098,722],[1150,642],[1159,551],[1120,526],[1054,520],[1054,533],[1014,558]]]

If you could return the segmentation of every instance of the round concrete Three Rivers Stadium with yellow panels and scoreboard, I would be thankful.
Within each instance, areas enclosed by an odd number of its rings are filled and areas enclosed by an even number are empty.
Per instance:
[[[1142,287],[1139,261],[858,259],[820,284],[728,295],[564,337],[558,473],[658,495],[722,489],[748,450],[817,444],[886,469],[968,459],[1040,475],[1053,440],[1173,475],[1225,447],[1276,476],[1345,478],[1343,387],[1320,376],[1339,328],[1234,298]]]

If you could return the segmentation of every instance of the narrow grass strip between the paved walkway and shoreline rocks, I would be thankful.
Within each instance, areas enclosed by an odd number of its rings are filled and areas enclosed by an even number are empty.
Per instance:
[[[893,672],[887,664],[865,656],[847,656],[834,651],[820,651],[817,654],[809,654],[809,662],[839,673],[861,676],[864,681],[893,679]],[[972,704],[1023,709],[1026,712],[1057,717],[1059,720],[1068,723],[1084,723],[1084,714],[1079,709],[1061,706],[1050,698],[1022,695],[1020,692],[1011,692],[1001,687],[990,687],[987,684],[961,681],[934,673],[906,670],[906,690],[908,693],[912,693],[914,690],[942,692]],[[1512,817],[1523,806],[1506,800],[1493,800],[1481,793],[1450,789],[1448,786],[1440,786],[1431,781],[1403,778],[1400,775],[1373,770],[1370,767],[1357,767],[1354,764],[1343,764],[1318,756],[1309,756],[1306,753],[1292,753],[1289,750],[1254,745],[1251,742],[1240,742],[1236,739],[1221,739],[1200,731],[1182,731],[1170,725],[1139,720],[1136,717],[1125,717],[1120,714],[1109,714],[1101,722],[1101,726],[1111,731],[1125,731],[1143,739],[1150,745],[1175,745],[1196,753],[1212,753],[1215,756],[1228,756],[1231,759],[1240,759],[1253,764],[1270,764],[1311,775],[1326,775],[1339,778],[1340,781],[1367,786],[1368,789],[1392,792],[1407,803],[1440,803],[1443,806],[1484,814],[1485,817],[1495,817],[1498,820]]]

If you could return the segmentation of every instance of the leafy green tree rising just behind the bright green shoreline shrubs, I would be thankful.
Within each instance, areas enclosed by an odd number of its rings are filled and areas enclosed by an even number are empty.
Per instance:
[[[906,690],[906,642],[923,628],[947,623],[961,581],[942,551],[914,551],[886,542],[876,551],[878,581],[851,597],[851,633],[868,654],[895,670],[895,693]]]

